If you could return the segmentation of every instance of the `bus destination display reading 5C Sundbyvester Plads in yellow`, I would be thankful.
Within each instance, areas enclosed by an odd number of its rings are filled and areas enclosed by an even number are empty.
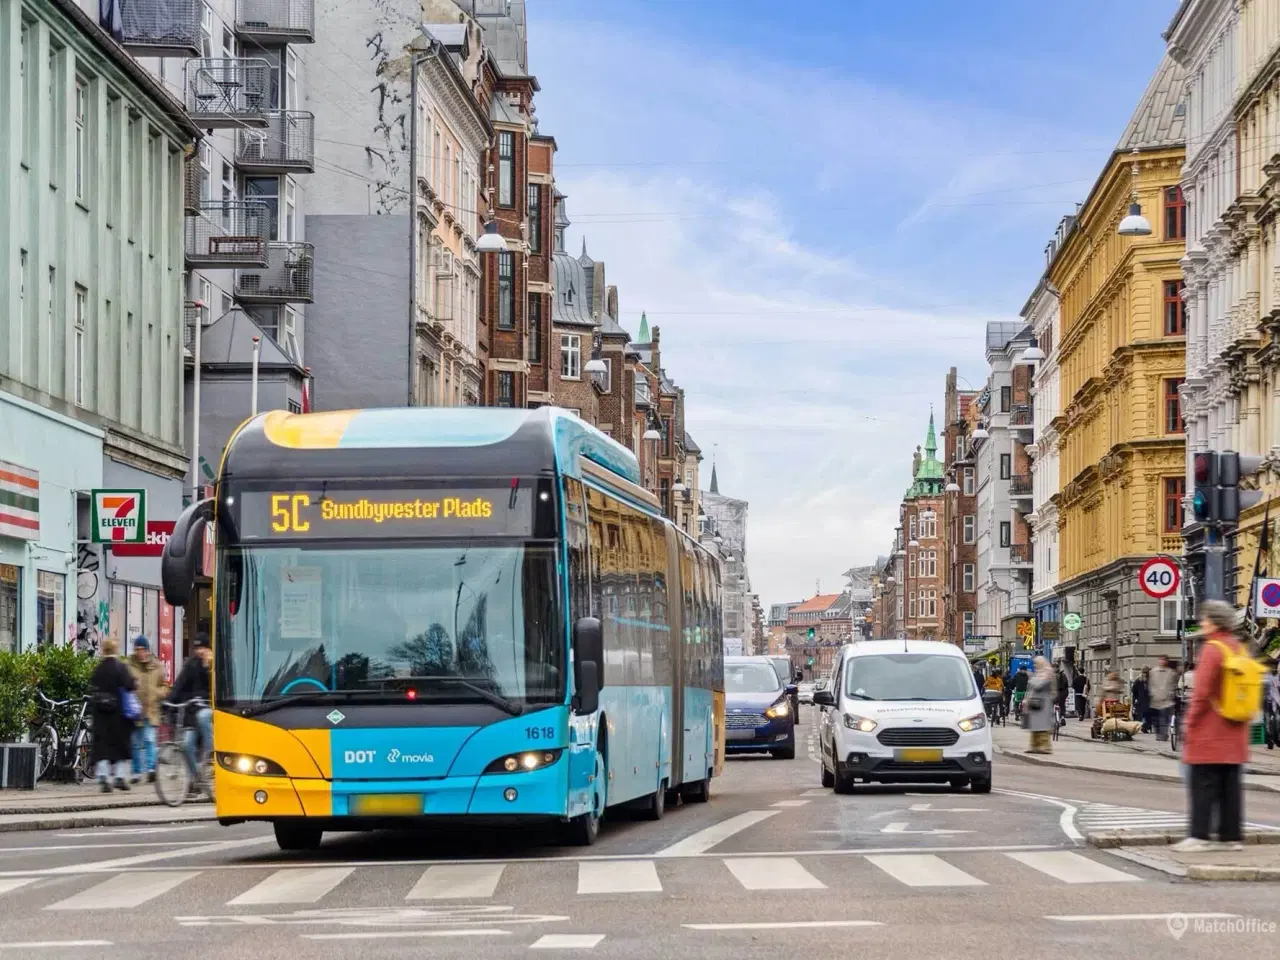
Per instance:
[[[532,490],[264,490],[239,495],[239,538],[529,536]]]

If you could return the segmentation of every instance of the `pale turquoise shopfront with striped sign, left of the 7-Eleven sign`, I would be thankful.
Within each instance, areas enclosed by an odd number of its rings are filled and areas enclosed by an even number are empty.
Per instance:
[[[102,431],[0,393],[0,650],[76,637],[77,536]]]

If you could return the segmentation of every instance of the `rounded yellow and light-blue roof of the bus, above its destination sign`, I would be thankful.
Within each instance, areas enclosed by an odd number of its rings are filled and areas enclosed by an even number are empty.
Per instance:
[[[379,456],[370,457],[370,451]],[[393,407],[259,415],[232,435],[221,475],[238,480],[339,476],[581,476],[585,457],[634,484],[635,454],[559,407]]]

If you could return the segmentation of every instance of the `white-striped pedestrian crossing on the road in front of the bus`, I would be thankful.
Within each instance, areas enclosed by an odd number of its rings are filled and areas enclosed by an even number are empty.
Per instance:
[[[356,867],[282,867],[246,870],[141,869],[86,874],[67,893],[42,877],[0,878],[6,910],[129,911],[177,900],[184,911],[215,902],[233,911],[300,909],[343,902],[365,888],[360,874],[393,904],[415,908],[458,901],[518,902],[548,895],[566,899],[660,896],[690,888],[723,895],[783,893],[827,888],[965,888],[1036,884],[1134,883],[1143,878],[1074,850],[956,851],[943,854],[847,854],[689,859],[602,859],[541,863],[453,863]],[[46,891],[54,902],[32,902]],[[22,906],[14,906],[22,897]]]

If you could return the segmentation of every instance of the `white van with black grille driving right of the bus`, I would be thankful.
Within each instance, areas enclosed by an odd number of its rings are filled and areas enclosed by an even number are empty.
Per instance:
[[[991,730],[964,653],[936,640],[846,645],[822,708],[822,785],[966,783],[991,791]]]

